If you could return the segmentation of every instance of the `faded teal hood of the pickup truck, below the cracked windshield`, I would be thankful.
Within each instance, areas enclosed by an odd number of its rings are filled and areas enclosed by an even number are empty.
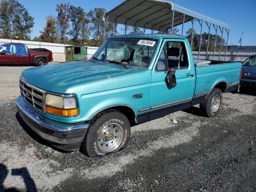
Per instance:
[[[50,64],[24,70],[21,78],[46,91],[64,93],[70,86],[138,72],[142,68],[125,68],[106,62],[80,61]]]

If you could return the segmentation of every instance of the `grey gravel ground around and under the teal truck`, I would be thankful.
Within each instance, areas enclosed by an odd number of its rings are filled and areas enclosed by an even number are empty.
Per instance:
[[[13,75],[1,96],[15,94],[26,67],[0,68],[1,82]],[[134,126],[128,147],[103,158],[53,148],[20,118],[16,97],[0,98],[0,192],[256,191],[256,89],[223,98],[214,118],[195,106]]]

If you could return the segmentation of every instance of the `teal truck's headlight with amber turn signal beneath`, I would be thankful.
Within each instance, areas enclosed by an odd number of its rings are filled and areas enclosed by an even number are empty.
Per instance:
[[[46,94],[45,111],[60,116],[78,115],[78,106],[75,95],[57,96]]]

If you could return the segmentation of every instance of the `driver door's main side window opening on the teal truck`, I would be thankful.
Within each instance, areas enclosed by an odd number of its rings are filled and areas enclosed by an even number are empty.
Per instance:
[[[166,42],[168,67],[176,70],[188,68],[188,59],[183,42]]]

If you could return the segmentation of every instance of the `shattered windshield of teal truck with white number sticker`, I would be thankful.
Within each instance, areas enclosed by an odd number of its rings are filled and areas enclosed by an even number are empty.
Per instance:
[[[124,66],[148,67],[158,40],[151,38],[110,38],[93,59]]]

